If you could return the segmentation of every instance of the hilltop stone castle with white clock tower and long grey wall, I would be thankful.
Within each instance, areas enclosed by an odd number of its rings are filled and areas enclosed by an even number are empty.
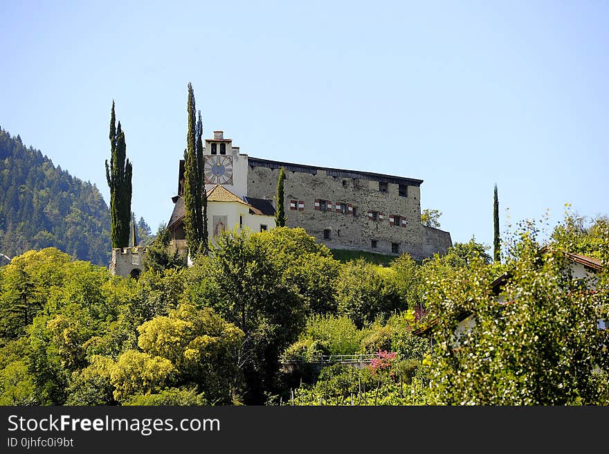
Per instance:
[[[421,224],[421,183],[423,180],[269,161],[242,154],[223,131],[214,131],[205,140],[206,190],[221,185],[249,203],[261,215],[272,215],[279,170],[284,168],[284,209],[286,226],[302,227],[317,241],[332,249],[370,251],[385,255],[408,253],[417,260],[434,253],[444,254],[452,246],[451,234]],[[179,206],[184,178],[184,161],[179,164],[178,196],[167,225],[175,240],[184,238],[179,222]],[[264,202],[266,201],[266,210]],[[271,208],[272,210],[273,208]],[[215,234],[210,223],[210,238]],[[236,222],[229,222],[233,228]],[[239,223],[241,224],[241,223]],[[256,219],[250,230],[274,226],[269,219]],[[240,225],[239,225],[240,227]],[[259,227],[259,228],[257,228]]]

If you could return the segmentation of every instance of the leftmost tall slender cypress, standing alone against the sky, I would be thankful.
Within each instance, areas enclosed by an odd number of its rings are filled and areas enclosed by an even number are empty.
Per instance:
[[[110,114],[110,164],[106,160],[106,179],[110,188],[110,237],[113,248],[129,246],[131,221],[131,176],[133,169],[127,159],[125,132],[120,121],[116,127],[114,101]]]

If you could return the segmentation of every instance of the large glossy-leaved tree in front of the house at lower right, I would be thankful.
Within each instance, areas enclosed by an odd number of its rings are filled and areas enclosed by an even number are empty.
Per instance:
[[[606,237],[609,244],[609,236]],[[439,401],[477,405],[596,405],[607,401],[606,333],[597,329],[608,287],[573,280],[562,251],[540,253],[525,230],[511,277],[493,293],[480,260],[439,278],[428,300],[439,314],[432,385]],[[603,283],[604,282],[604,283]],[[461,314],[475,323],[457,331]],[[604,379],[606,380],[606,378]]]

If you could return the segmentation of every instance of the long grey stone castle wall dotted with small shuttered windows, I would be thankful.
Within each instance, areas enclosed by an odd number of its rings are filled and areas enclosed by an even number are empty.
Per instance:
[[[273,199],[281,164],[250,158],[248,196]],[[452,245],[449,233],[421,224],[421,180],[293,164],[284,168],[286,225],[305,228],[329,248],[391,255],[392,243],[397,243],[398,254],[406,252],[420,260],[435,252],[446,253]],[[386,192],[379,190],[379,183],[386,184]],[[399,194],[399,185],[408,186],[406,196]],[[331,201],[329,210],[316,210],[318,199]],[[304,202],[304,206],[296,203],[297,209],[291,210],[292,200]],[[336,212],[336,203],[350,204],[352,209]],[[370,219],[371,210],[378,212],[380,219]],[[405,222],[390,225],[394,215]],[[329,238],[325,238],[324,230],[329,230]],[[372,247],[372,240],[376,247]]]

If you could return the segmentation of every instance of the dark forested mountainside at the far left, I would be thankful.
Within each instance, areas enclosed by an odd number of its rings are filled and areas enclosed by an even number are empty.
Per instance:
[[[109,227],[109,209],[96,185],[55,167],[0,128],[0,253],[14,257],[54,246],[107,266]]]

